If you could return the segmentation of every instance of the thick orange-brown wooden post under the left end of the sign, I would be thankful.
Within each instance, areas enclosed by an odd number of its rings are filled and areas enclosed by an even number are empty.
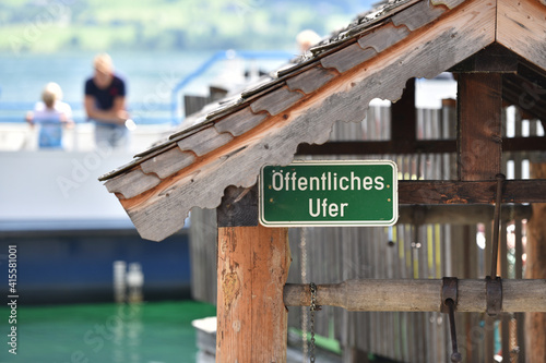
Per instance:
[[[258,222],[257,187],[226,189],[218,215],[216,362],[286,362],[286,228]]]

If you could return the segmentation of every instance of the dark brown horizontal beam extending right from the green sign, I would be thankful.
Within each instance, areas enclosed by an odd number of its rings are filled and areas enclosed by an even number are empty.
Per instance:
[[[496,181],[399,181],[399,203],[492,204],[496,187]],[[502,203],[546,203],[546,179],[507,180]]]

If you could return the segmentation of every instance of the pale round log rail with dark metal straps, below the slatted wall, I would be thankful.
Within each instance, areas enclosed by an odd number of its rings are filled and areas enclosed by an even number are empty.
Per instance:
[[[319,285],[317,304],[354,312],[440,312],[441,279],[364,279]],[[461,279],[458,312],[486,312],[485,279]],[[286,306],[309,306],[309,285],[286,285]],[[502,280],[502,312],[546,312],[546,280]]]

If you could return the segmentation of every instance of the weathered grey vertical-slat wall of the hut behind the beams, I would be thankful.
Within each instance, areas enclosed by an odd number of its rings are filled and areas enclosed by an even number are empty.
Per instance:
[[[542,129],[536,121],[522,121],[520,112],[513,108],[509,108],[506,114],[505,134],[508,130],[508,136],[536,135]],[[417,131],[418,138],[455,138],[454,102],[446,102],[439,110],[418,110]],[[389,107],[371,107],[360,124],[337,123],[331,135],[332,141],[389,137]],[[509,179],[529,178],[529,157],[521,153],[505,155],[505,166],[508,165],[505,172]],[[378,158],[394,160],[399,179],[456,179],[454,155],[358,157]],[[191,220],[193,297],[215,303],[215,211],[193,210]],[[511,220],[502,225],[502,231],[507,233],[501,233],[500,275],[521,278],[525,221]],[[491,222],[290,228],[289,240],[294,259],[288,282],[294,283],[312,281],[319,285],[354,278],[484,278],[490,266]],[[289,326],[307,330],[307,307],[292,307]],[[450,361],[449,322],[441,313],[346,312],[323,306],[316,314],[316,322],[317,334],[340,341],[345,362],[356,361],[358,352],[401,362]],[[468,362],[490,362],[492,353],[502,351],[505,362],[523,362],[523,344],[518,343],[523,338],[522,324],[522,314],[507,314],[498,322],[482,314],[456,314],[458,340],[463,358]]]

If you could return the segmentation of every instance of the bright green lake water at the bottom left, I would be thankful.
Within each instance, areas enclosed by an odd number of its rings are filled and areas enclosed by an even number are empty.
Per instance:
[[[195,362],[191,320],[215,315],[193,301],[17,306],[16,324],[0,308],[0,363]],[[16,355],[9,352],[16,326]]]

